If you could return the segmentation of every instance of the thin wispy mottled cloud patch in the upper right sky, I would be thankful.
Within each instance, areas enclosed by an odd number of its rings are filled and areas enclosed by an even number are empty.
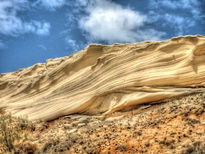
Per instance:
[[[150,0],[149,16],[152,21],[163,21],[164,27],[172,28],[178,35],[184,35],[201,19],[199,0]],[[167,11],[167,10],[170,11]],[[183,12],[177,14],[176,12]]]

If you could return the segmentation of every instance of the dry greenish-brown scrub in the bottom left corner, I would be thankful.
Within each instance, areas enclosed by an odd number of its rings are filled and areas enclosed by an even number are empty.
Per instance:
[[[31,123],[23,118],[14,118],[10,114],[0,115],[0,152],[19,153],[24,151],[28,140],[27,129]]]

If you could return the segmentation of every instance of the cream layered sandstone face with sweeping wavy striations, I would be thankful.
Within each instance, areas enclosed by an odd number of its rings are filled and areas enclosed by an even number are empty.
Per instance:
[[[108,114],[204,91],[205,37],[90,45],[0,75],[0,109],[30,120]]]

